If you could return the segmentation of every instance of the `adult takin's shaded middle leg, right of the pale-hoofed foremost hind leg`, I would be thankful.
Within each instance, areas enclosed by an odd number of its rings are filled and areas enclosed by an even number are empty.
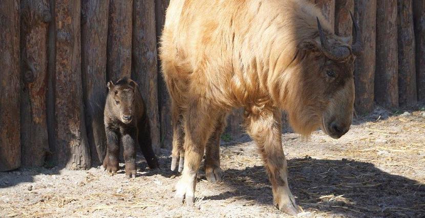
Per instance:
[[[226,128],[226,114],[218,115],[214,132],[205,147],[205,177],[208,182],[222,180],[220,168],[220,136]]]

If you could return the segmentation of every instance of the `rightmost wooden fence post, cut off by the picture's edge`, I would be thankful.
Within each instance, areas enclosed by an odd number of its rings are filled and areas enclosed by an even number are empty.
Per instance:
[[[413,1],[416,43],[416,88],[419,101],[425,101],[425,0]]]

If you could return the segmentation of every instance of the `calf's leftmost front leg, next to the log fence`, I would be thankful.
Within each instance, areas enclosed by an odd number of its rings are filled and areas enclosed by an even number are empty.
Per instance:
[[[105,127],[107,136],[107,154],[103,160],[103,168],[108,173],[115,174],[118,171],[119,161],[119,136],[116,130]]]

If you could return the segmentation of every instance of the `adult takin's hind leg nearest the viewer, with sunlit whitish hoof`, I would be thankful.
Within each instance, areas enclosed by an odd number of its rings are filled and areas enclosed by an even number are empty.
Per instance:
[[[196,178],[205,151],[205,144],[214,131],[215,112],[209,105],[196,100],[189,104],[184,113],[184,168],[176,185],[175,199],[186,205],[193,205],[195,200]]]

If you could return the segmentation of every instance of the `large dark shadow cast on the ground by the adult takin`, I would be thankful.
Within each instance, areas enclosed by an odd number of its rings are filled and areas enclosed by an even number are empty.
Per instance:
[[[381,171],[373,164],[350,160],[288,160],[289,186],[306,211],[333,212],[347,217],[425,217],[425,185]],[[224,200],[244,196],[272,205],[263,166],[223,172],[231,192],[204,197]]]

